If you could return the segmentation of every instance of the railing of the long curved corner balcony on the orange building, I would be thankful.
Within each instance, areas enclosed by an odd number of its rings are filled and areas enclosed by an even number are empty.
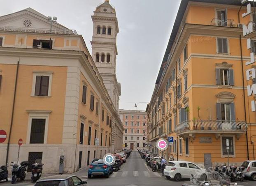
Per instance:
[[[247,124],[243,121],[228,120],[188,120],[178,124],[175,130],[178,134],[193,132],[243,132]]]

